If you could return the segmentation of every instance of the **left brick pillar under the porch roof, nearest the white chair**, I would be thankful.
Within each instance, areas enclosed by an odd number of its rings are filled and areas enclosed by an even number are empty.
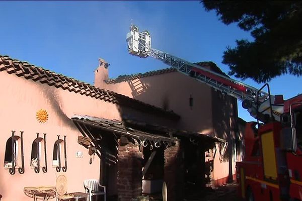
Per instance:
[[[142,152],[135,144],[119,145],[117,194],[118,201],[130,201],[142,192]]]

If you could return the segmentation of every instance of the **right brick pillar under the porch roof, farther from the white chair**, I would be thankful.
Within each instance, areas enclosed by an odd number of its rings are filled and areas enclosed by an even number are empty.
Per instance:
[[[168,201],[183,200],[184,197],[184,161],[180,142],[165,149],[165,173]]]

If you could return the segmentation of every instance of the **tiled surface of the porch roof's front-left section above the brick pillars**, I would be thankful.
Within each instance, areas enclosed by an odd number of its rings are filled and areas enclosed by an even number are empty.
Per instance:
[[[71,120],[141,141],[148,140],[152,142],[161,141],[167,143],[174,143],[175,141],[178,141],[178,139],[174,137],[166,137],[164,135],[151,134],[140,130],[132,129],[130,127],[126,127],[121,121],[118,120],[108,120],[104,118],[80,115],[74,115]]]

